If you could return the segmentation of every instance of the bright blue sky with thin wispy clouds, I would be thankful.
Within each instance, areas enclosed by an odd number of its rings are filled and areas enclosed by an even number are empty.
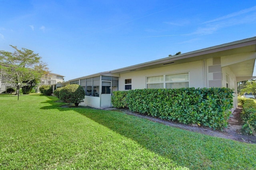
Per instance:
[[[66,81],[254,36],[254,0],[0,0],[0,50]]]

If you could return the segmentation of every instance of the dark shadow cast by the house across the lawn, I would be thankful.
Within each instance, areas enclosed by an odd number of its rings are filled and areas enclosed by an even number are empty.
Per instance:
[[[51,106],[44,106],[41,109],[74,110],[114,132],[136,141],[144,148],[178,162],[179,166],[190,167],[191,169],[208,169],[209,167],[222,169],[224,166],[230,168],[233,166],[230,162],[234,163],[236,159],[223,162],[218,155],[223,154],[224,157],[230,157],[230,154],[225,150],[240,150],[238,142],[231,140],[164,126],[122,112],[84,108],[83,106],[82,108],[63,108],[60,106],[65,103],[56,102],[56,98],[52,96],[48,98],[50,100],[44,103],[49,103]],[[222,165],[216,163],[216,159]]]

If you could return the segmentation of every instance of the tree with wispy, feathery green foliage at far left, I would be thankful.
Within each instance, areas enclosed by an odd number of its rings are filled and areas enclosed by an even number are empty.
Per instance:
[[[0,74],[12,84],[30,86],[28,91],[31,91],[40,78],[48,73],[47,64],[32,50],[19,50],[16,46],[10,46],[14,48],[14,52],[0,51]]]

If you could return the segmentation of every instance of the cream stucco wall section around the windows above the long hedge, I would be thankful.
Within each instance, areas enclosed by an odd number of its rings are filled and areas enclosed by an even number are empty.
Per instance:
[[[132,89],[146,88],[147,76],[158,76],[166,74],[175,74],[189,72],[189,86],[195,88],[204,87],[204,73],[202,60],[196,62],[189,62],[184,64],[171,65],[161,68],[154,68],[149,70],[142,70],[137,72],[130,72],[120,74],[119,90],[124,90],[124,80],[132,79]]]

